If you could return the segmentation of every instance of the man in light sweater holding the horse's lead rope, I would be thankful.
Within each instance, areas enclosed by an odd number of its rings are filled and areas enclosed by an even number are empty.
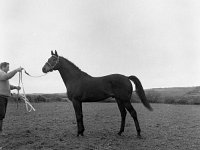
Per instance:
[[[8,98],[11,96],[10,90],[21,89],[19,86],[10,85],[9,79],[22,70],[23,68],[19,67],[8,73],[9,63],[3,62],[0,64],[0,135],[5,135],[5,133],[3,133],[3,119],[6,114]]]

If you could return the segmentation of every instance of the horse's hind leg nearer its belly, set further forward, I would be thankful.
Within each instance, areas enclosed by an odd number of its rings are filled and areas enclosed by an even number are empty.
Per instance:
[[[124,107],[124,104],[118,99],[116,101],[117,101],[118,108],[119,108],[120,113],[121,113],[121,127],[120,127],[120,131],[118,132],[118,134],[121,135],[122,132],[124,132],[124,126],[125,126],[127,112],[126,112],[126,109]]]

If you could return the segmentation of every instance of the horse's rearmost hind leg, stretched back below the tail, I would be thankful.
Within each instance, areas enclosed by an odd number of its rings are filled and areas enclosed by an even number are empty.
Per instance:
[[[135,127],[137,130],[137,136],[140,138],[141,137],[141,135],[140,135],[141,129],[140,129],[140,125],[139,125],[139,122],[137,119],[137,112],[135,111],[135,109],[133,108],[133,106],[131,105],[130,102],[124,102],[124,106],[129,111],[131,116],[133,117],[133,120],[135,122]]]

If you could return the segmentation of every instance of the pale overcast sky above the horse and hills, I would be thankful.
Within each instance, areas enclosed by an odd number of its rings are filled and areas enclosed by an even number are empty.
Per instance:
[[[41,75],[56,49],[92,76],[136,75],[145,89],[200,86],[199,8],[199,0],[1,0],[0,62]],[[66,92],[57,71],[23,82],[27,93]]]

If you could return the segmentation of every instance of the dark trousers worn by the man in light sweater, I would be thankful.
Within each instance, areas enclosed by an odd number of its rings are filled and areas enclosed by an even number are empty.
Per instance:
[[[6,115],[8,98],[0,95],[0,120],[3,120]]]

